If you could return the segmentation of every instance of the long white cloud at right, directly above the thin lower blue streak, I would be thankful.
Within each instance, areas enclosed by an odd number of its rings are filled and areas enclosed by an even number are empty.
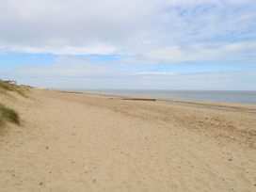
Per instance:
[[[256,61],[256,42],[203,43],[140,50],[122,60],[125,63],[248,62]]]

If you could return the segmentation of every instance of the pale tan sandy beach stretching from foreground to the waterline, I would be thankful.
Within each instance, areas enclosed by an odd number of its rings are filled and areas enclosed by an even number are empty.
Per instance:
[[[256,114],[31,90],[0,96],[0,191],[256,191]]]

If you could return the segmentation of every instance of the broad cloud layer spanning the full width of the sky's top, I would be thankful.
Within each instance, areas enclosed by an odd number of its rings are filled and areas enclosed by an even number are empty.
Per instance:
[[[1,0],[0,8],[0,44],[14,52],[130,53],[255,38],[251,0]]]

